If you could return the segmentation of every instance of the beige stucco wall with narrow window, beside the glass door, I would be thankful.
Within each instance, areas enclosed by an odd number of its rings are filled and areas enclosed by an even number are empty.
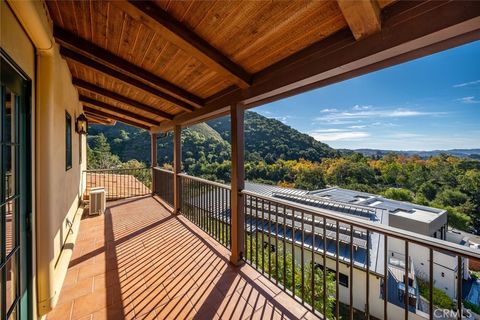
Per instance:
[[[54,44],[48,13],[40,1],[1,3],[0,44],[32,79],[35,314],[57,302],[81,214],[81,172],[75,119],[82,113],[66,62]],[[36,62],[35,62],[36,56]],[[35,91],[36,90],[36,91]],[[65,111],[72,117],[72,168],[65,168]],[[73,233],[71,232],[73,231]],[[37,312],[38,311],[38,312]]]

